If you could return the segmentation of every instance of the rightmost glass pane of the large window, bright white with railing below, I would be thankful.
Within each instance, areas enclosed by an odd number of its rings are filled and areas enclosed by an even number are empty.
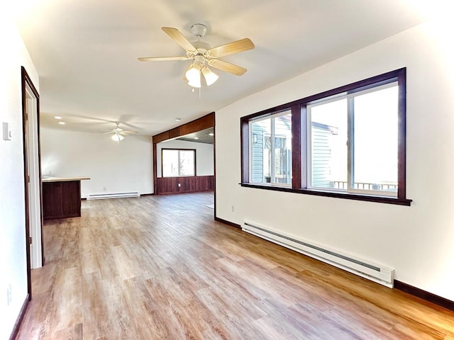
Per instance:
[[[398,86],[354,98],[355,189],[397,193]]]

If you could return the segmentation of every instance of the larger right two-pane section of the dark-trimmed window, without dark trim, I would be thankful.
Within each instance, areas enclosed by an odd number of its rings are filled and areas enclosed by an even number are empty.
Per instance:
[[[308,188],[397,196],[397,81],[307,106]]]

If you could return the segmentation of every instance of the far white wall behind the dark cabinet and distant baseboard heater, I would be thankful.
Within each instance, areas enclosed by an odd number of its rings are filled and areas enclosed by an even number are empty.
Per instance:
[[[153,144],[129,135],[119,143],[110,135],[41,128],[43,176],[88,176],[81,194],[153,193]]]

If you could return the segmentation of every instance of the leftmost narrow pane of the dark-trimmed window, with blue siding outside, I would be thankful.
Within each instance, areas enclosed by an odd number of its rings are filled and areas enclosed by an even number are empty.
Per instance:
[[[251,125],[251,167],[253,183],[271,182],[271,119]]]

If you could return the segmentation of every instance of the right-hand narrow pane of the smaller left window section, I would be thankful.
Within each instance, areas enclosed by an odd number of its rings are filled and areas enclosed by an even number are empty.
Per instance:
[[[292,113],[273,118],[275,125],[275,180],[292,183]]]

